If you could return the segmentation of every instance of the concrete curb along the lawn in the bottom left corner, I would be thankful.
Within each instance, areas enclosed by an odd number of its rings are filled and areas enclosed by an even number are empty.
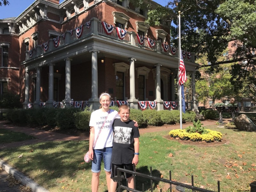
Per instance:
[[[38,185],[32,179],[26,177],[23,173],[14,169],[12,166],[8,165],[5,161],[0,159],[0,167],[4,169],[8,174],[12,175],[15,179],[19,180],[23,185],[30,187],[33,192],[50,192],[46,190],[44,187]]]

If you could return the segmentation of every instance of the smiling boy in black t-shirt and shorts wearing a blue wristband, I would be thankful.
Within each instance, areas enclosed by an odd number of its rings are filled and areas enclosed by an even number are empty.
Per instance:
[[[118,114],[121,119],[115,119],[113,130],[114,137],[113,150],[111,158],[111,181],[110,192],[116,191],[117,182],[113,178],[117,176],[117,168],[123,168],[133,171],[133,164],[137,165],[139,161],[139,129],[134,126],[134,122],[129,119],[130,108],[128,105],[121,105],[118,108]],[[132,174],[125,173],[128,179],[128,187],[134,189],[134,180]]]

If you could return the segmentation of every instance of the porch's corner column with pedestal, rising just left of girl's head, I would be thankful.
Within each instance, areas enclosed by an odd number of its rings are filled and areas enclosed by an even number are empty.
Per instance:
[[[90,50],[92,53],[92,97],[89,99],[90,110],[96,110],[100,107],[98,96],[98,50]]]

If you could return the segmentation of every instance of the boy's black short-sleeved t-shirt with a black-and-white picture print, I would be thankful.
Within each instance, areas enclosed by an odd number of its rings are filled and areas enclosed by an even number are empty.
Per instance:
[[[134,157],[134,138],[139,138],[138,127],[134,122],[122,122],[121,119],[115,119],[113,123],[115,132],[113,141],[113,151],[111,162],[113,164],[130,164]]]

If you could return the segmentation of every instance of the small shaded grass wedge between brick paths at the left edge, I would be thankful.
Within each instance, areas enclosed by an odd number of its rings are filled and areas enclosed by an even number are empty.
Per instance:
[[[12,143],[35,139],[35,137],[26,135],[25,133],[13,132],[6,129],[0,129],[0,143]]]

